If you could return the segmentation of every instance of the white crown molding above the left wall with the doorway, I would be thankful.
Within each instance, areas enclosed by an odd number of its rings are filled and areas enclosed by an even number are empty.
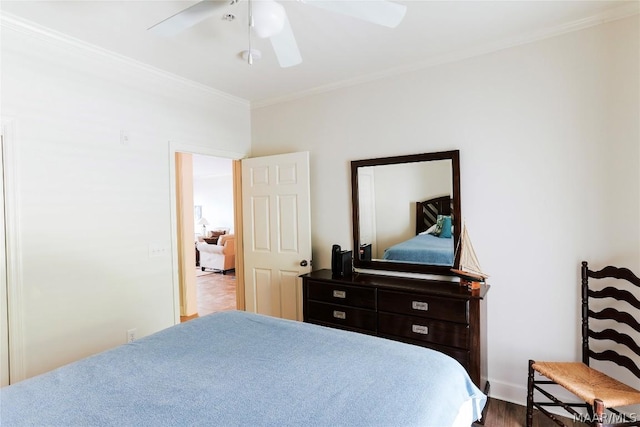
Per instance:
[[[161,70],[127,56],[117,54],[107,49],[103,49],[94,44],[87,43],[75,37],[71,37],[67,34],[63,34],[50,28],[43,27],[7,12],[0,11],[0,27],[32,38],[39,39],[46,43],[55,43],[65,47],[73,47],[82,51],[83,53],[88,53],[108,61],[113,61],[114,63],[124,65],[125,67],[129,67],[130,69],[142,73],[152,74],[168,82],[184,85],[197,91],[221,98],[225,101],[230,101],[242,105],[244,107],[248,107],[250,105],[249,101],[247,101],[246,99],[230,95],[226,92],[222,92],[210,86],[203,85],[201,83],[186,79],[184,77],[180,77],[176,74]]]

